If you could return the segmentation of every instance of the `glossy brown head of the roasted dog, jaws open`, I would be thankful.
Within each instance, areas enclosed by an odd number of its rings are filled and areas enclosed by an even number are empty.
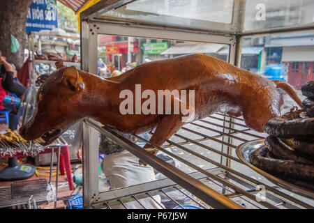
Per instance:
[[[36,108],[31,120],[20,128],[24,139],[42,139],[41,144],[51,144],[70,125],[82,118],[80,112],[84,92],[82,73],[75,67],[59,67],[46,79],[37,93]]]

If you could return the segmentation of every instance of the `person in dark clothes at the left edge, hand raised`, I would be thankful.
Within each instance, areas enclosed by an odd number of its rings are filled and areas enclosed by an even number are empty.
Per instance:
[[[5,91],[14,93],[17,97],[23,95],[26,88],[17,79],[17,70],[13,63],[8,63],[4,56],[0,56],[1,85]]]

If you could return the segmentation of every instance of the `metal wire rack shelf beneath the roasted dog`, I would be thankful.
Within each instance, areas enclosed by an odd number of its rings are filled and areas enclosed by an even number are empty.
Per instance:
[[[108,137],[114,135],[112,139],[119,144],[126,145],[126,141],[128,141],[128,139],[119,137],[117,132],[106,126],[100,128],[89,120],[86,120],[85,123]],[[146,139],[134,136],[150,144]],[[161,153],[177,160],[180,164],[179,169],[173,167],[172,171],[163,171],[163,168],[158,166],[168,168],[163,162],[160,161],[158,165],[148,162],[152,167],[163,172],[167,178],[144,183],[144,185],[101,192],[93,200],[92,207],[114,208],[117,204],[121,204],[124,208],[128,208],[128,202],[135,201],[142,208],[147,208],[140,201],[146,197],[165,208],[163,203],[156,201],[153,197],[159,194],[160,197],[166,197],[168,201],[172,201],[177,208],[186,207],[184,202],[182,203],[184,199],[188,199],[198,208],[219,208],[216,201],[220,199],[227,199],[231,206],[234,205],[231,208],[313,208],[313,199],[301,197],[274,185],[239,160],[235,152],[239,144],[254,139],[263,139],[265,136],[264,133],[259,134],[247,128],[242,118],[233,118],[220,113],[184,125],[163,146],[151,144]],[[133,144],[133,142],[128,141],[127,144]],[[126,146],[125,148],[144,160],[146,155],[140,154],[141,151],[134,151],[131,147]],[[156,162],[160,160],[158,157],[149,157],[149,159],[156,159]],[[184,179],[178,180],[178,174],[182,174]],[[190,182],[190,184],[186,184],[186,182]],[[210,190],[210,192],[207,191],[207,194],[202,196],[198,191],[198,186],[202,186],[204,187],[202,190]],[[178,201],[170,195],[171,192],[177,192],[185,198]],[[218,197],[207,199],[208,194],[215,194],[215,192],[218,192]]]

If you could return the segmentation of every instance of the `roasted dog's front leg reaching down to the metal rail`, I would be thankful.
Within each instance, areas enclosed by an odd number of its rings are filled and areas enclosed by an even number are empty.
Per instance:
[[[166,115],[159,121],[157,128],[154,132],[154,134],[151,136],[151,139],[149,139],[149,142],[152,144],[155,144],[156,146],[161,146],[163,143],[169,139],[172,134],[177,132],[182,125],[184,125],[184,122],[181,120],[181,115]],[[149,150],[152,148],[150,144],[146,144],[144,146],[145,150]],[[158,152],[158,149],[153,148],[149,150],[152,154],[156,155]],[[139,164],[142,164],[146,166],[147,164],[142,162],[142,160],[139,161]]]

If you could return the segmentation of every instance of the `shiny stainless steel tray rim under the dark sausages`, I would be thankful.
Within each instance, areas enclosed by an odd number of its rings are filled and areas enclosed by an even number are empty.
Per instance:
[[[242,162],[244,162],[244,164],[246,164],[248,167],[251,167],[254,171],[256,171],[258,174],[261,174],[262,176],[270,180],[272,183],[275,183],[276,185],[279,185],[285,188],[286,190],[290,190],[296,194],[313,199],[314,192],[312,192],[311,190],[306,190],[303,187],[299,187],[298,185],[294,185],[292,183],[288,183],[285,180],[276,178],[276,176],[268,174],[262,169],[259,169],[255,167],[253,164],[251,164],[250,154],[256,151],[257,149],[261,148],[262,146],[264,146],[264,139],[248,141],[237,147],[237,156]]]

